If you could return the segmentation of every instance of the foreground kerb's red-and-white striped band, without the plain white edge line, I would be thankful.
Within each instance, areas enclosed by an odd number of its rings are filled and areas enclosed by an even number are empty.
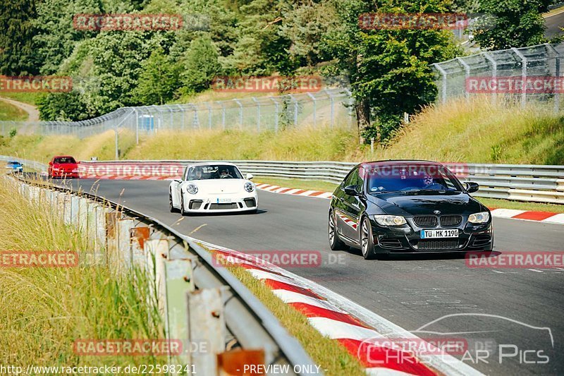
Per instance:
[[[367,370],[367,375],[448,374],[442,363],[445,354],[436,355],[431,361],[426,355],[426,361],[419,361],[419,358],[413,353],[386,347],[382,344],[384,341],[380,341],[387,339],[386,336],[310,289],[303,283],[303,281],[308,281],[307,279],[300,281],[298,279],[300,277],[295,274],[264,260],[259,260],[253,255],[206,242],[201,243],[214,253],[221,253],[224,257],[234,257],[240,260],[237,262],[238,266],[247,269],[255,279],[263,281],[281,301],[305,315],[314,329],[345,346],[351,355],[360,360]],[[464,368],[465,373],[481,375],[460,360],[450,358],[450,361],[453,364],[450,364],[449,367]]]

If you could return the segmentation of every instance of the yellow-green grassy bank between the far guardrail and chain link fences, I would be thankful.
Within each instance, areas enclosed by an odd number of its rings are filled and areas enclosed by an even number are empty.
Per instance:
[[[386,147],[357,145],[355,128],[302,126],[280,133],[161,131],[120,135],[123,159],[343,160],[417,158],[442,162],[564,164],[564,116],[551,109],[492,105],[483,98],[429,107]],[[0,154],[47,160],[69,153],[79,159],[114,159],[114,133],[84,140],[71,136],[16,135],[0,140]]]

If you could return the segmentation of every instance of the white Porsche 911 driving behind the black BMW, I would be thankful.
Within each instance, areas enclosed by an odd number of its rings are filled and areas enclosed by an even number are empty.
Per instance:
[[[257,212],[257,188],[235,164],[202,162],[186,167],[181,180],[171,181],[168,203],[180,214]]]

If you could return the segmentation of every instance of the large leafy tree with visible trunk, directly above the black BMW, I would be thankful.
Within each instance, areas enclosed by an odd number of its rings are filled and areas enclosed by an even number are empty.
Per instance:
[[[450,2],[336,0],[341,26],[328,35],[326,48],[350,77],[361,139],[386,140],[404,112],[412,114],[434,100],[429,64],[451,59],[459,50],[448,30],[361,29],[359,16],[372,12],[374,5],[381,13],[445,13]]]

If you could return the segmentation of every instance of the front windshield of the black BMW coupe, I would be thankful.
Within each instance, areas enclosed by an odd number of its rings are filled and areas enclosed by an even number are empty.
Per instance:
[[[441,166],[376,168],[368,176],[368,193],[462,190],[455,176]]]

